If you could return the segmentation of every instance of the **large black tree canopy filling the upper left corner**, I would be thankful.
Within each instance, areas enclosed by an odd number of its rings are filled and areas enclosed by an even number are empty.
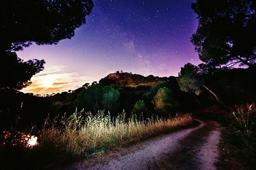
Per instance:
[[[1,3],[1,50],[21,50],[35,42],[52,45],[72,38],[86,22],[92,0],[13,0]]]

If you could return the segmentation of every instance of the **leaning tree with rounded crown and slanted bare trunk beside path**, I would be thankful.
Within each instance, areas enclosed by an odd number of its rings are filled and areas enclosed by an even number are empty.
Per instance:
[[[180,90],[199,96],[202,93],[202,87],[204,87],[205,90],[214,96],[218,103],[225,106],[218,95],[204,84],[203,74],[204,73],[202,73],[200,69],[193,64],[185,64],[184,67],[181,67],[179,77],[177,78]],[[196,101],[198,102],[197,99]],[[227,108],[227,106],[225,106],[225,108]]]

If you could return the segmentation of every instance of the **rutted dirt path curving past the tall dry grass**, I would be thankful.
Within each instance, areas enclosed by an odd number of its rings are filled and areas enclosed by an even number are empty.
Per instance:
[[[61,169],[216,169],[220,125],[198,121],[197,127],[163,134]]]

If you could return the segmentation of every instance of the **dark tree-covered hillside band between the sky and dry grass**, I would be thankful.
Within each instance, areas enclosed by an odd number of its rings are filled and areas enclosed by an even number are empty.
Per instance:
[[[127,115],[143,113],[144,117],[148,117],[156,113],[165,117],[218,104],[211,92],[204,88],[200,88],[200,92],[195,94],[182,91],[179,78],[174,76],[141,76],[145,83],[154,82],[154,85],[145,86],[140,85],[141,79],[130,80],[134,74],[113,74],[118,78],[111,79],[106,76],[99,83],[94,82],[72,92],[61,92],[48,97],[1,91],[1,127],[27,127],[31,124],[41,126],[48,115],[51,118],[61,117],[64,113],[74,113],[76,109],[91,111],[93,114],[104,110],[106,113],[109,111],[112,116],[125,110]],[[232,69],[206,75],[204,84],[216,93],[223,103],[232,106],[256,96],[253,77],[255,69]],[[107,81],[111,83],[106,85]],[[130,84],[116,85],[118,81],[129,81]],[[104,82],[104,85],[101,82]],[[131,87],[134,83],[137,83],[136,87]]]

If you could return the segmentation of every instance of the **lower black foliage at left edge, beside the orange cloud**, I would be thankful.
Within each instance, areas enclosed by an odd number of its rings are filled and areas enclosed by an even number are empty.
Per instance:
[[[0,89],[21,90],[31,84],[31,77],[44,69],[44,60],[28,60],[24,62],[15,52],[1,52],[0,57]]]

